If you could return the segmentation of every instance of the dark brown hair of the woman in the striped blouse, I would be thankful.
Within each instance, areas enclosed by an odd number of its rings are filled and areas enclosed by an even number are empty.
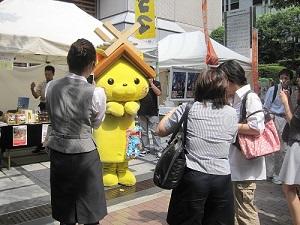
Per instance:
[[[217,109],[227,105],[227,76],[222,70],[210,69],[202,71],[196,81],[195,101],[212,102]]]

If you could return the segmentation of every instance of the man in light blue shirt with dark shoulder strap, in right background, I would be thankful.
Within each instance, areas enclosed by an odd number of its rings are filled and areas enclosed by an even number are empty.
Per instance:
[[[289,90],[291,94],[292,88],[290,82],[293,79],[293,72],[283,69],[278,74],[279,84],[270,87],[265,96],[264,108],[271,112],[274,116],[274,122],[278,135],[281,137],[283,128],[286,124],[284,106],[280,100],[279,92],[282,89]],[[278,179],[280,168],[284,159],[284,143],[281,140],[281,150],[266,157],[267,177],[272,179],[275,184],[281,184]]]

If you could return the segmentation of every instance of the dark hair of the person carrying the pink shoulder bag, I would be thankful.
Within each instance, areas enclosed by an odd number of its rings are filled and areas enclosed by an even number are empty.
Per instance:
[[[225,72],[228,77],[228,81],[237,84],[238,86],[244,86],[247,84],[247,78],[245,76],[245,70],[235,60],[227,60],[218,66],[219,70]]]

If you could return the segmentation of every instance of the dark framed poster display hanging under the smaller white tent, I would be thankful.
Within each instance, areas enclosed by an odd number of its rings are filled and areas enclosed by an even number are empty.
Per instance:
[[[191,101],[199,70],[172,68],[170,71],[170,99],[174,101]]]

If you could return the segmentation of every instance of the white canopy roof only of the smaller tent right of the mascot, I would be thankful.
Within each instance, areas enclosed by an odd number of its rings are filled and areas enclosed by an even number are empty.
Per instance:
[[[219,62],[237,60],[245,70],[251,70],[251,61],[229,48],[211,39]],[[193,67],[204,68],[206,57],[204,33],[201,31],[171,34],[158,43],[158,61],[160,68]]]

